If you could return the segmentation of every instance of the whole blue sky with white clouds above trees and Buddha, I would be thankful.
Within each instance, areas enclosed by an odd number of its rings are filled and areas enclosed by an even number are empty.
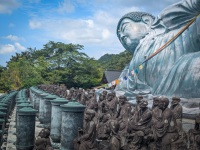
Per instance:
[[[131,11],[154,16],[180,0],[0,0],[0,65],[15,52],[41,49],[52,40],[81,44],[98,59],[124,51],[118,20]]]

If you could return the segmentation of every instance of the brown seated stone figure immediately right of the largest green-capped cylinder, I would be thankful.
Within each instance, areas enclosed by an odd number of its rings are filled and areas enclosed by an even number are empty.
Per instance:
[[[93,121],[95,111],[87,109],[84,116],[84,128],[74,140],[74,150],[96,150],[96,124]]]

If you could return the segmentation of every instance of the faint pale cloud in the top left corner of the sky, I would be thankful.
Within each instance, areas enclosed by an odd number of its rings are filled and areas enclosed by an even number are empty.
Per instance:
[[[10,14],[19,5],[17,0],[0,0],[0,14]]]

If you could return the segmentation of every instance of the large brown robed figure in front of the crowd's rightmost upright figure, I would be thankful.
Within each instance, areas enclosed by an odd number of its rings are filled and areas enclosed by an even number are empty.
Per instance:
[[[176,119],[168,105],[169,99],[163,96],[159,100],[158,108],[152,113],[155,119],[152,124],[154,139],[163,150],[171,149],[171,144],[179,138]]]

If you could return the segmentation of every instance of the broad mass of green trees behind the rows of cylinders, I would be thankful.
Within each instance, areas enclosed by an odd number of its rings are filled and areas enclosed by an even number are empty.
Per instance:
[[[79,44],[49,41],[42,49],[28,48],[0,66],[0,90],[17,90],[37,84],[65,84],[91,88],[100,84],[102,69],[81,52]]]

